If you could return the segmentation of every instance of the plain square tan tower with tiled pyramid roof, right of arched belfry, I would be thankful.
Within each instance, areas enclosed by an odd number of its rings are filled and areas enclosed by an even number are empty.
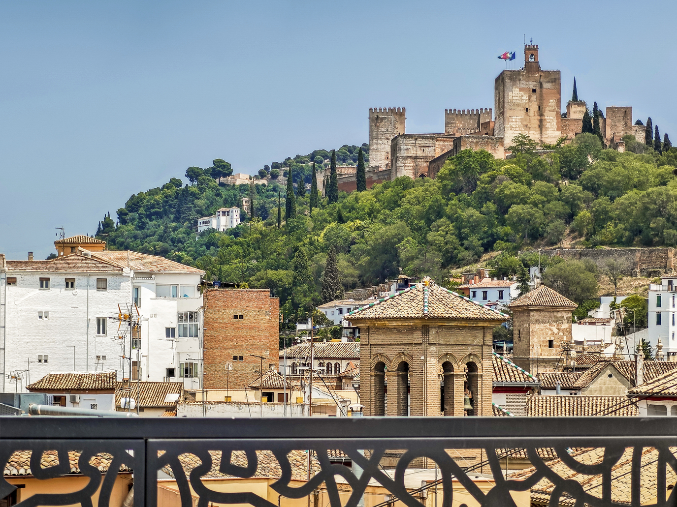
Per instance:
[[[563,364],[562,343],[571,341],[571,314],[577,308],[550,287],[541,285],[512,301],[512,361],[536,375]]]

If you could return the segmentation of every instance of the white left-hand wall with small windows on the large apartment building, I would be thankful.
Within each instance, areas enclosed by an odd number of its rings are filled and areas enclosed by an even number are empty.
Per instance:
[[[16,276],[17,285],[7,289],[7,346],[5,373],[22,373],[22,389],[53,371],[122,370],[121,340],[116,339],[117,325],[108,317],[117,316],[118,304],[129,301],[129,274],[86,274],[55,272],[8,272]],[[49,289],[40,289],[40,278],[50,279]],[[66,290],[66,278],[75,279],[75,289]],[[97,290],[96,279],[106,278],[108,289]],[[38,312],[49,312],[40,320]],[[106,318],[106,335],[97,336],[96,318]],[[87,337],[89,329],[89,339]],[[89,343],[89,356],[87,356]],[[73,348],[75,364],[73,365]],[[49,356],[47,364],[38,356]],[[106,356],[97,362],[96,356]],[[16,381],[5,382],[5,391],[14,391]]]

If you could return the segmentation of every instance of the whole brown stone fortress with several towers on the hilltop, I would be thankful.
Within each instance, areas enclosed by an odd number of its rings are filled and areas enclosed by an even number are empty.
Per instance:
[[[561,102],[560,71],[542,70],[538,45],[526,44],[523,68],[503,70],[494,80],[494,109],[445,109],[444,132],[410,134],[404,107],[370,107],[367,187],[399,176],[434,178],[447,158],[462,149],[485,149],[495,158],[506,158],[519,134],[539,144],[554,144],[561,137],[570,142],[583,130],[587,105],[569,101],[562,113]],[[632,122],[632,106],[607,107],[600,128],[605,144],[619,151],[625,149],[625,135],[645,141],[645,126]],[[339,167],[337,172],[340,190],[356,189],[357,168]],[[318,174],[321,187],[326,174]]]

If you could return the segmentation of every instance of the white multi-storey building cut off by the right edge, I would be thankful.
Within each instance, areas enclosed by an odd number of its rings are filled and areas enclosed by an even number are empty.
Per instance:
[[[649,343],[656,351],[658,339],[663,354],[677,354],[677,276],[661,276],[661,284],[649,285]]]

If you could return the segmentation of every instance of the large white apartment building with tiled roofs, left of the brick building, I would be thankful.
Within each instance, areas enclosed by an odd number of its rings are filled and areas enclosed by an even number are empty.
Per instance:
[[[201,387],[203,271],[158,256],[83,247],[3,266],[5,391],[25,391],[53,371],[115,371],[118,380]],[[133,332],[119,313],[131,313],[139,324]]]

